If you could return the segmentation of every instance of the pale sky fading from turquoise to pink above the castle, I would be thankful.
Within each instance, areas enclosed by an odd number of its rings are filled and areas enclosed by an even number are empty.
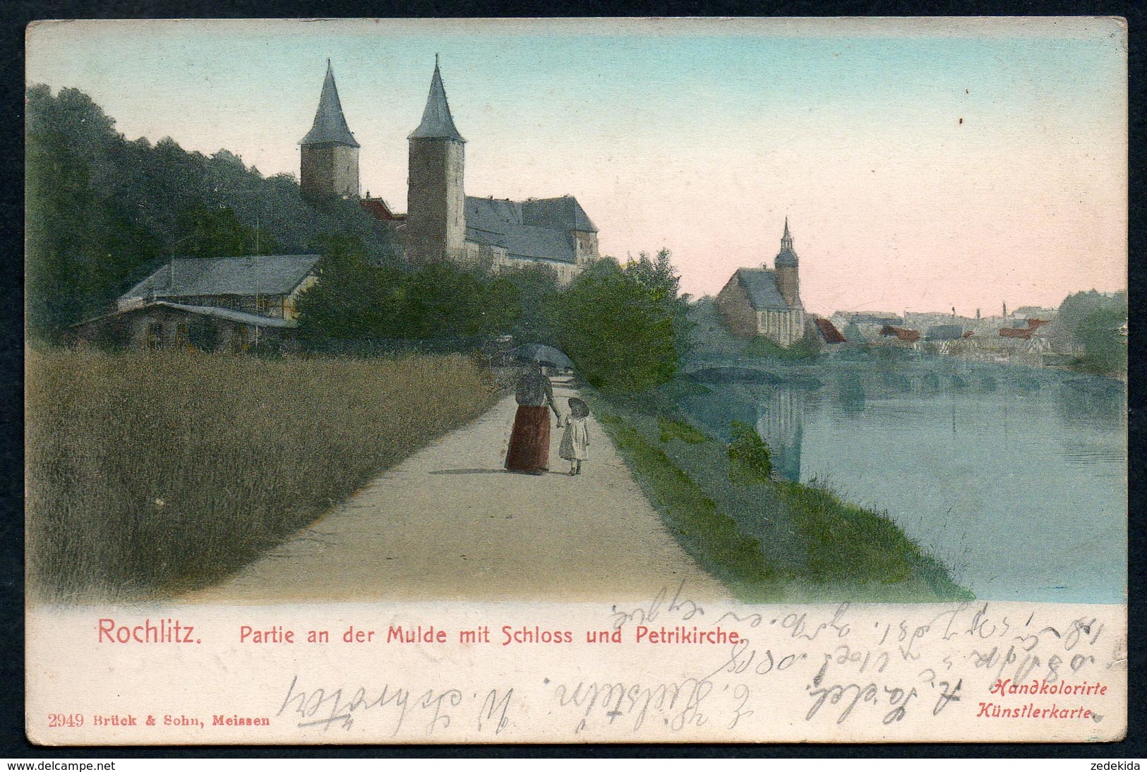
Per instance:
[[[999,313],[1126,287],[1126,31],[1110,18],[86,21],[26,78],[128,139],[298,174],[329,57],[364,192],[406,208],[435,54],[466,193],[575,195],[621,259],[713,295],[773,265],[809,311]]]

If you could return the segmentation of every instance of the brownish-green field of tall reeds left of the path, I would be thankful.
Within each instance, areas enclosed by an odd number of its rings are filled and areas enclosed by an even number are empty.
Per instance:
[[[497,397],[457,354],[45,350],[26,384],[29,591],[71,601],[209,585]]]

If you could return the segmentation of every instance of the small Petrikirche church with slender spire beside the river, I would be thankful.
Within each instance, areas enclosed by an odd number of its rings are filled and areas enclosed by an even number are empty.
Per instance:
[[[773,271],[738,268],[717,294],[717,309],[729,330],[740,337],[763,335],[788,348],[805,335],[804,304],[801,303],[799,260],[793,249],[788,218]]]

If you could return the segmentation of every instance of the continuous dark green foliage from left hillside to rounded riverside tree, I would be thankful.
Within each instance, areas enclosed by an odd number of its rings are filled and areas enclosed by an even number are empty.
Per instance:
[[[169,256],[321,251],[299,302],[312,340],[491,338],[559,344],[585,377],[641,391],[672,377],[685,298],[668,250],[600,260],[559,291],[547,268],[408,271],[391,228],[352,202],[307,202],[219,150],[127,140],[86,94],[28,89],[28,318],[36,337],[104,312]]]

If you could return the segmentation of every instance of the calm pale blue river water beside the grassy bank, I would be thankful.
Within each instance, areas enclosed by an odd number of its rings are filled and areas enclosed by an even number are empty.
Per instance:
[[[755,424],[781,474],[887,510],[977,598],[1124,602],[1118,381],[951,359],[773,373],[682,407],[726,439]]]

